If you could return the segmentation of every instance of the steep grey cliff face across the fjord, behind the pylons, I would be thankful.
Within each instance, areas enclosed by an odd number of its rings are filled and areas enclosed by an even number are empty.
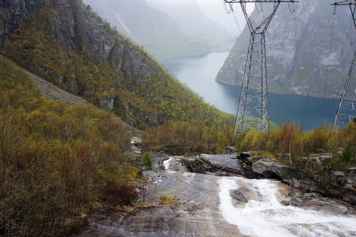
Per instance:
[[[265,4],[264,10],[267,16],[271,5]],[[263,15],[256,10],[252,16],[257,20],[263,19]],[[296,17],[298,51],[288,4],[279,6],[266,33],[268,88],[291,94],[339,98],[354,54],[356,33],[349,8],[337,8],[329,58],[333,17],[330,2],[300,0]],[[250,31],[247,27],[242,35],[248,43]],[[236,39],[234,48],[216,76],[217,81],[241,85],[247,56],[245,42],[241,36]]]

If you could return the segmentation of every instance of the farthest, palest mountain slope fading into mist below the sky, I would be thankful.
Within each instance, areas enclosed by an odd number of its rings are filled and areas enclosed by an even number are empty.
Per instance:
[[[184,33],[199,34],[210,39],[228,39],[232,34],[220,23],[206,17],[194,0],[164,1],[147,0],[156,9],[171,15]]]

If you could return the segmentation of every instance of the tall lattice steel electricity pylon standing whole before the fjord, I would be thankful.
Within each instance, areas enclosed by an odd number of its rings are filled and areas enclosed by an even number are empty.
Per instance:
[[[250,44],[245,65],[244,79],[242,81],[239,107],[236,114],[234,138],[247,131],[268,132],[268,93],[267,93],[267,67],[265,32],[281,2],[291,2],[295,10],[294,0],[224,0],[230,4],[240,3],[244,12],[247,26],[250,29]],[[260,3],[263,11],[265,2],[273,3],[271,15],[262,23],[257,24],[246,12],[246,3]]]

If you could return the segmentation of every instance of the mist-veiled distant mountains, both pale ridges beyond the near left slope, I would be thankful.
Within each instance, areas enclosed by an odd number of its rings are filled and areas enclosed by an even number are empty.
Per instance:
[[[150,4],[145,0],[84,2],[112,26],[116,26],[118,31],[145,47],[159,60],[213,52],[206,38],[230,38],[230,42],[234,42],[234,37],[226,27],[206,17],[193,0],[177,4],[158,4],[153,0],[147,1]],[[170,11],[170,7],[177,11]],[[187,15],[182,15],[184,9],[191,10],[186,11]]]

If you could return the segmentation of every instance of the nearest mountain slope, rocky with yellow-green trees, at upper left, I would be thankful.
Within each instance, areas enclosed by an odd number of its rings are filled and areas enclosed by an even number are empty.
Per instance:
[[[1,0],[0,19],[2,54],[132,126],[231,120],[80,1]]]

